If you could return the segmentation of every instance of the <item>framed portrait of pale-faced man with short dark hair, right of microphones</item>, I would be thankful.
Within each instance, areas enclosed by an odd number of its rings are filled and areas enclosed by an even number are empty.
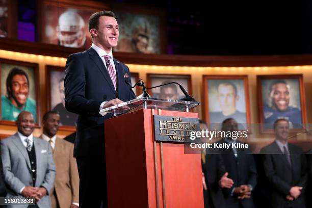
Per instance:
[[[204,118],[212,128],[227,118],[242,125],[250,123],[247,75],[204,75],[202,86]]]

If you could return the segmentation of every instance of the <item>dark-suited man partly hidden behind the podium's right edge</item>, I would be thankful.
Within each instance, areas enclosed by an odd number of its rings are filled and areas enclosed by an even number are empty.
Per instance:
[[[207,129],[207,124],[199,121],[200,130]],[[207,142],[206,138],[201,138],[201,142]],[[233,180],[228,178],[225,172],[221,154],[215,154],[209,148],[202,149],[202,175],[203,194],[205,208],[226,208],[222,188],[230,189]]]

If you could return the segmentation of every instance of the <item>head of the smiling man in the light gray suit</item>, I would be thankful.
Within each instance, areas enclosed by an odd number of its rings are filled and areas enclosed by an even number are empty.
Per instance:
[[[29,112],[21,112],[16,121],[18,132],[28,137],[34,131],[34,116]]]

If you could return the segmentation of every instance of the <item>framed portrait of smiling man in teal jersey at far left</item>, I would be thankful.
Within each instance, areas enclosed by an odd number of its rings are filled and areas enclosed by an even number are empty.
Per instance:
[[[15,125],[22,111],[34,115],[40,126],[39,66],[35,63],[0,59],[1,114],[0,123]]]

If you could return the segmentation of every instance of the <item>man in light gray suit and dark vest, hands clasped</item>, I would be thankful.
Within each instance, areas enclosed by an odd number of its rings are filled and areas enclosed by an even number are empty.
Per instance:
[[[34,116],[30,112],[21,112],[16,125],[17,133],[1,142],[7,197],[35,197],[36,204],[8,207],[51,207],[48,192],[56,175],[51,147],[33,136]]]

